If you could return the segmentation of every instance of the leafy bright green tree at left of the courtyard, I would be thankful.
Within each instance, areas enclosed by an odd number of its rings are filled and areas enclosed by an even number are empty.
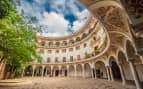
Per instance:
[[[11,7],[0,9],[0,13],[8,11],[0,17],[0,51],[3,54],[0,63],[6,63],[7,72],[20,73],[23,66],[34,60],[40,61],[36,52],[36,32],[39,29],[24,22],[12,0],[1,0],[0,5]]]

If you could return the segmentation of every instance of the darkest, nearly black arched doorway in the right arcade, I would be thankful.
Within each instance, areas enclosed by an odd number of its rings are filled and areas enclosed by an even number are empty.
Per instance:
[[[113,75],[114,80],[122,80],[119,66],[116,63],[116,60],[114,57],[110,57],[110,66],[112,69],[112,75]]]

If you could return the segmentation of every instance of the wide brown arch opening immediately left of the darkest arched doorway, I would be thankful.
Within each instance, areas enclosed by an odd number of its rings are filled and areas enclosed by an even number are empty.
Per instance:
[[[107,72],[104,62],[97,61],[95,64],[95,77],[106,79],[107,78]]]

